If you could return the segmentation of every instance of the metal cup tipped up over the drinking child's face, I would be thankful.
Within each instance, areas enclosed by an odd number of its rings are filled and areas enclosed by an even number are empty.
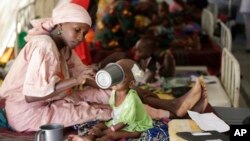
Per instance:
[[[120,65],[115,63],[108,64],[104,69],[96,73],[96,83],[102,89],[107,89],[124,79],[124,72]]]

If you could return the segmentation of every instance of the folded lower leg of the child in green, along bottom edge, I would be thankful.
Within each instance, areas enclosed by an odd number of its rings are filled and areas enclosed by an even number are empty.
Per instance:
[[[118,140],[122,138],[139,138],[141,132],[116,131],[110,132],[105,136],[96,139],[96,141]]]

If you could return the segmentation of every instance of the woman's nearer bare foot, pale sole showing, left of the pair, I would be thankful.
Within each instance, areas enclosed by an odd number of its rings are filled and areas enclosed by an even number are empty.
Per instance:
[[[178,98],[179,108],[177,109],[175,115],[177,117],[183,117],[187,114],[187,111],[192,109],[194,105],[199,101],[202,93],[202,84],[197,78],[194,86],[185,95]],[[177,100],[177,99],[176,99]]]

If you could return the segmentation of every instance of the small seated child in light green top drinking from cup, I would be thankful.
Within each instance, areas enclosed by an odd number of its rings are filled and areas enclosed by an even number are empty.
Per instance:
[[[137,92],[131,87],[135,84],[136,74],[132,71],[136,62],[130,59],[121,59],[116,63],[123,69],[123,80],[112,86],[109,99],[112,119],[108,122],[96,124],[82,140],[118,140],[121,138],[139,138],[143,131],[153,127],[153,122],[147,114]],[[69,139],[81,140],[80,137],[70,135]]]

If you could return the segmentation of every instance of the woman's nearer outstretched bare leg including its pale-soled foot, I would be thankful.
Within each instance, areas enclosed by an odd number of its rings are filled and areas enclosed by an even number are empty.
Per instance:
[[[149,91],[140,88],[136,88],[136,90],[145,104],[154,108],[168,110],[176,117],[183,117],[187,114],[187,111],[192,109],[199,101],[202,86],[199,79],[197,79],[195,85],[189,90],[189,92],[174,100],[160,99],[157,96],[152,96]]]

